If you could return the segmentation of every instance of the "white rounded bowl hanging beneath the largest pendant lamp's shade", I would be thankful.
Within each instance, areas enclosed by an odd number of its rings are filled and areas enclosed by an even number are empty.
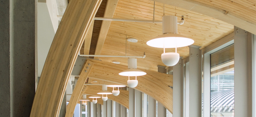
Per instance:
[[[166,66],[174,66],[179,62],[180,54],[175,52],[162,53],[161,59]]]

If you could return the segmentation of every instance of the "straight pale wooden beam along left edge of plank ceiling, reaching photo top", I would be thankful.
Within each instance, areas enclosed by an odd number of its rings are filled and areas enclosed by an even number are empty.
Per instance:
[[[107,17],[107,18],[113,17],[117,2],[118,0],[107,0],[104,17]],[[103,20],[101,23],[99,37],[98,37],[98,41],[95,49],[95,55],[100,55],[110,24],[111,24],[111,21],[107,21],[107,20]],[[99,59],[99,57],[94,57],[94,59]]]

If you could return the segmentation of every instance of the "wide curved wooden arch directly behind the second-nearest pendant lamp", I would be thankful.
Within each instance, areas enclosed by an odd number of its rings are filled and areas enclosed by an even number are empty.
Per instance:
[[[118,83],[127,86],[128,77],[120,76],[119,73],[127,69],[127,66],[117,65],[109,62],[94,60],[94,66],[89,74],[89,78]],[[143,70],[143,69],[140,69]],[[138,91],[150,95],[155,100],[164,105],[170,112],[173,111],[173,90],[158,80],[159,77],[170,77],[171,75],[144,70],[147,74],[137,77],[138,85],[134,88]],[[130,79],[132,79],[130,77]]]

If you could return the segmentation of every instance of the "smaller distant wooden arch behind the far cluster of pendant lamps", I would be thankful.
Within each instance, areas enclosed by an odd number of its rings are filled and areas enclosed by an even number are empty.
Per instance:
[[[99,85],[90,85],[88,89],[85,91],[84,94],[90,94],[90,95],[96,95],[99,97],[102,97],[102,95],[97,94],[97,92],[100,92],[102,89],[102,86]],[[112,92],[112,88],[108,87],[107,91]],[[116,90],[116,89],[115,89]],[[123,105],[125,108],[129,109],[129,91],[125,90],[119,90],[120,94],[118,96],[114,95],[107,95],[108,99],[118,102],[119,104]],[[105,97],[106,95],[104,95]],[[102,99],[99,99],[102,100]]]

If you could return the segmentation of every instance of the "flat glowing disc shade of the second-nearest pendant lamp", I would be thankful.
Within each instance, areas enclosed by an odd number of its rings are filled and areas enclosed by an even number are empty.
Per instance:
[[[138,70],[138,69],[126,69],[123,72],[119,73],[119,75],[121,76],[143,76],[146,75],[147,73],[143,72],[142,70]]]

